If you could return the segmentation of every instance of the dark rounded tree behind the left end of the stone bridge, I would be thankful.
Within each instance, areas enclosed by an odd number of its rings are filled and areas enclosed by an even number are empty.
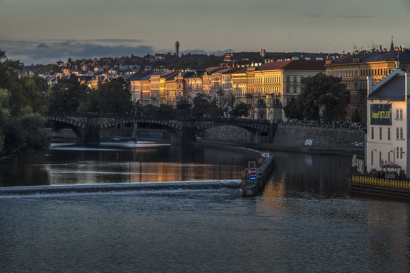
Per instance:
[[[77,79],[65,79],[50,90],[48,104],[50,111],[76,112],[80,103],[85,101],[88,87]]]

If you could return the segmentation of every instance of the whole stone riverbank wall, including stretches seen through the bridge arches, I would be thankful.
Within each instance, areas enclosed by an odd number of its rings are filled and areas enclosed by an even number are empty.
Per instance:
[[[53,137],[75,139],[71,129],[52,131],[47,129]],[[101,140],[110,140],[113,137],[127,137],[130,132],[124,129],[101,131]],[[364,152],[365,132],[356,128],[320,128],[297,125],[278,124],[272,143],[255,143],[251,132],[234,126],[220,126],[203,130],[192,144],[215,144],[257,150],[262,152],[286,151],[299,153],[360,153]],[[131,140],[146,140],[138,138]],[[154,140],[167,143],[168,140]]]

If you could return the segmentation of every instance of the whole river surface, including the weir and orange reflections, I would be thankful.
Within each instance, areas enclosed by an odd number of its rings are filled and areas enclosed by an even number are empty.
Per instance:
[[[118,153],[118,156],[116,155]],[[409,204],[346,193],[350,156],[53,144],[0,166],[1,272],[408,272]]]

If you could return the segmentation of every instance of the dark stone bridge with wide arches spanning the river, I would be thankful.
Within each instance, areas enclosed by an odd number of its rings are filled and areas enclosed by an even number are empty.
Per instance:
[[[158,125],[169,133],[172,143],[196,142],[196,136],[200,131],[223,125],[241,127],[253,135],[256,135],[256,132],[268,132],[270,142],[272,142],[276,130],[276,124],[268,120],[237,118],[46,112],[46,119],[63,123],[71,128],[76,135],[76,143],[78,144],[99,144],[100,130],[127,123],[134,123],[134,130],[138,128],[138,123]]]

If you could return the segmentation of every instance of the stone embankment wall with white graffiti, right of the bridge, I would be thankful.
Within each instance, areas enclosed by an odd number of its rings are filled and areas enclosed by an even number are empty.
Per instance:
[[[273,144],[317,148],[364,149],[360,129],[313,128],[278,125]]]

